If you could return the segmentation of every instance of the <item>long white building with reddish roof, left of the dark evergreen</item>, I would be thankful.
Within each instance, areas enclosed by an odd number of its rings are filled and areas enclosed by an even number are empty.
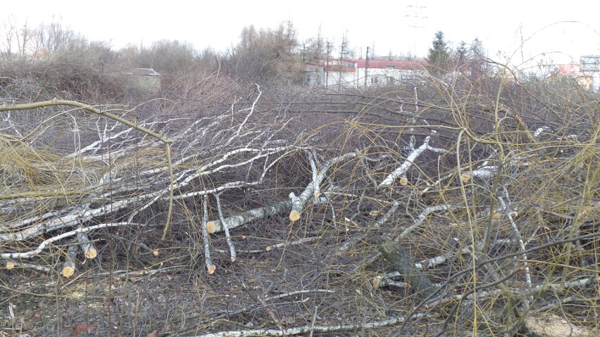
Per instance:
[[[389,85],[427,76],[425,62],[330,59],[305,63],[304,84],[358,88]]]

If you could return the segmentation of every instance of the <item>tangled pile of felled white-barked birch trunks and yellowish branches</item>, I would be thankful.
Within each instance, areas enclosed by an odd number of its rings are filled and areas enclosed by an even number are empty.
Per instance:
[[[284,214],[337,230],[281,246],[319,239],[351,261],[346,272],[375,268],[371,290],[408,287],[418,298],[403,315],[363,328],[417,326],[439,310],[442,333],[453,324],[514,332],[536,312],[592,300],[597,103],[518,82],[479,87],[501,93],[482,96],[465,83],[429,81],[293,99],[263,98],[257,85],[220,113],[180,106],[144,122],[73,101],[0,107],[0,259],[8,269],[73,276],[80,252],[96,258],[106,244],[99,239],[127,227],[120,239],[154,255],[160,244],[144,237],[194,236],[195,256],[213,274],[222,264],[211,257],[213,235],[223,233],[235,262],[230,231]],[[30,125],[18,115],[25,111],[46,117]],[[389,272],[375,267],[382,258]],[[580,321],[590,314],[569,310]],[[357,329],[274,321],[274,329],[223,333]]]

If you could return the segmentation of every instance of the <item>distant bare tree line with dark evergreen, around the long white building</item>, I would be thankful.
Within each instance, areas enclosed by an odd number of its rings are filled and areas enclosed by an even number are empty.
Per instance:
[[[275,28],[257,29],[246,26],[237,44],[230,49],[215,51],[196,49],[188,42],[163,39],[149,45],[129,44],[115,50],[110,42],[89,41],[84,35],[65,27],[60,20],[37,27],[18,25],[14,16],[0,27],[0,72],[3,77],[23,77],[18,70],[44,79],[48,91],[77,92],[83,82],[85,94],[75,99],[95,96],[120,96],[128,91],[126,81],[115,75],[131,68],[153,68],[162,75],[165,91],[177,91],[189,75],[225,74],[237,83],[302,84],[304,63],[326,58],[362,58],[363,53],[350,44],[347,33],[341,41],[324,37],[320,29],[315,36],[301,40],[292,21]],[[358,54],[358,55],[357,55]],[[437,32],[425,58],[430,72],[441,75],[451,70],[477,70],[482,73],[485,54],[480,40],[451,49],[444,33]],[[377,56],[369,58],[413,59],[413,56]],[[19,66],[15,66],[19,65]],[[43,81],[43,80],[42,80]],[[100,85],[101,84],[101,85]],[[98,94],[100,93],[100,94]],[[6,93],[2,94],[7,96]]]

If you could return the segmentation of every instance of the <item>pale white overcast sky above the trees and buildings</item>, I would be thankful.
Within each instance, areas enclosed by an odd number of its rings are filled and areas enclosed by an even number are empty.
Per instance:
[[[196,49],[225,51],[239,41],[246,25],[273,28],[291,20],[300,40],[314,37],[319,27],[335,45],[347,34],[357,56],[374,46],[377,56],[392,51],[423,57],[438,30],[452,46],[477,37],[490,57],[503,62],[511,57],[513,65],[542,58],[568,63],[600,54],[600,4],[589,0],[2,2],[3,22],[11,14],[19,25],[30,26],[61,18],[71,30],[90,40],[111,41],[115,49],[177,39]]]

